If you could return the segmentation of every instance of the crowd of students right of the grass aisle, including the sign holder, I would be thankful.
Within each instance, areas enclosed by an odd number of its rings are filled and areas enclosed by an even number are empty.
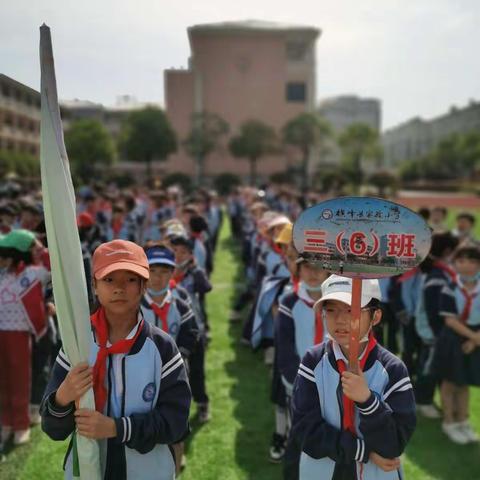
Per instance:
[[[350,379],[342,362],[348,357],[351,282],[297,253],[297,206],[293,197],[279,203],[244,189],[228,209],[248,279],[230,320],[243,320],[242,343],[263,349],[272,367],[270,460],[283,462],[286,480],[357,478],[353,471],[358,478],[398,478],[387,472],[399,468],[416,412],[441,419],[454,443],[478,441],[468,411],[469,386],[480,385],[475,217],[459,213],[449,231],[444,207],[419,209],[433,232],[427,259],[403,275],[364,281],[370,293],[362,298],[369,312],[362,314],[362,362],[374,392],[367,398],[361,390],[346,393]],[[434,402],[437,389],[441,409]]]

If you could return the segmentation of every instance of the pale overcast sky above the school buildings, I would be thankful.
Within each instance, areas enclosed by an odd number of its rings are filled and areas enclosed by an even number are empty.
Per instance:
[[[478,0],[0,0],[0,73],[39,89],[45,22],[61,99],[163,103],[187,27],[246,19],[320,28],[317,99],[378,98],[383,129],[480,100]]]

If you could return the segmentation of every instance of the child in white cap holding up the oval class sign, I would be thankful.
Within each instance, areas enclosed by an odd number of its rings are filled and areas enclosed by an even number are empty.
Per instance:
[[[362,281],[360,357],[348,369],[352,280],[332,275],[316,308],[329,340],[304,355],[295,380],[291,436],[300,445],[300,480],[402,479],[400,455],[415,429],[415,400],[405,365],[377,344],[377,280]]]

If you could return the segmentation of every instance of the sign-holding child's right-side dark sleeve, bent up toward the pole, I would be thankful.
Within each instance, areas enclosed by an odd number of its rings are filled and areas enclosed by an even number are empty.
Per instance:
[[[382,397],[373,393],[357,403],[360,431],[368,450],[385,458],[397,458],[405,450],[415,425],[415,398],[407,368],[392,355],[393,366],[386,369],[390,380]]]

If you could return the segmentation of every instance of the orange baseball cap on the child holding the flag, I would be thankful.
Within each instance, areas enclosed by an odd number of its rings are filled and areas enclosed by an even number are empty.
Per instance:
[[[103,278],[116,270],[128,270],[149,279],[148,260],[142,247],[127,240],[102,243],[92,258],[93,276]]]

